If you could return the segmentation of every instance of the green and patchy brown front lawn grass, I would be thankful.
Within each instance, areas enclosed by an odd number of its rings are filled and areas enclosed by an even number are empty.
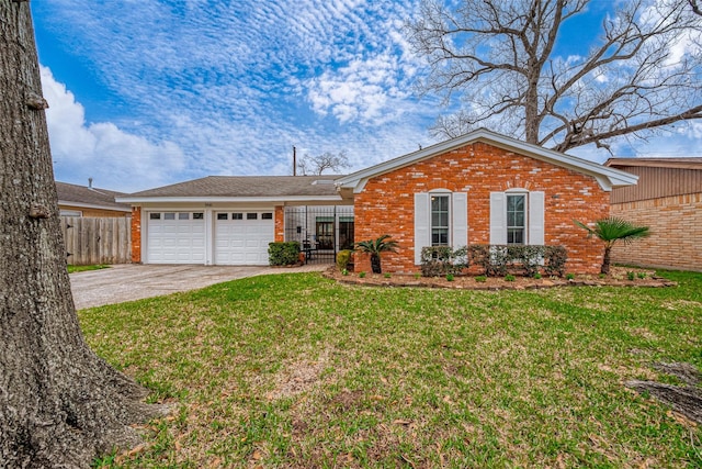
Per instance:
[[[702,429],[624,387],[702,367],[678,288],[455,291],[253,277],[83,310],[92,347],[172,402],[101,467],[702,466]]]

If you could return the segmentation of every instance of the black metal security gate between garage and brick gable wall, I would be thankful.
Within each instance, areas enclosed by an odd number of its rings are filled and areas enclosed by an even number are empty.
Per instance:
[[[299,243],[307,264],[333,264],[353,248],[353,206],[286,206],[285,241]]]

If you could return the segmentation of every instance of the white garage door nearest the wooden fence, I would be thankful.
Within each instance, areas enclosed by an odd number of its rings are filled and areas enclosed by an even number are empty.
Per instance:
[[[203,212],[149,212],[148,264],[205,264]]]

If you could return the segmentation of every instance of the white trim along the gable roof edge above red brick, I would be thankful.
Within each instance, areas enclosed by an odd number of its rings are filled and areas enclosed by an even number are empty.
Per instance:
[[[371,166],[370,168],[362,169],[352,175],[341,177],[337,180],[337,186],[342,189],[353,189],[354,193],[359,193],[363,190],[365,183],[371,178],[478,142],[592,176],[605,191],[612,190],[613,187],[635,185],[637,180],[637,176],[630,175],[614,168],[608,168],[600,164],[588,161],[571,155],[566,155],[564,153],[554,152],[537,145],[521,142],[486,129],[478,129],[460,137],[441,142],[427,148]]]

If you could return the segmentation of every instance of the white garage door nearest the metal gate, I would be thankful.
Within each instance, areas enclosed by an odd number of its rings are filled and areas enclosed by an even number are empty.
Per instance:
[[[215,264],[267,266],[268,244],[275,238],[273,212],[215,213]]]

